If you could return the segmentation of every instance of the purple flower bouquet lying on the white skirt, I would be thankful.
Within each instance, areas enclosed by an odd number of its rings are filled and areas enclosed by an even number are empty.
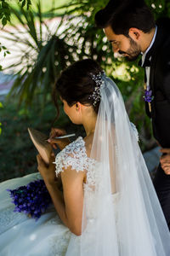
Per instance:
[[[7,189],[15,205],[14,212],[24,212],[36,220],[52,203],[48,189],[42,179],[38,179],[17,189]]]

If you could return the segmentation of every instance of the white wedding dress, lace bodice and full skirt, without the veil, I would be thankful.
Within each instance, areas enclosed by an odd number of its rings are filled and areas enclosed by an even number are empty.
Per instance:
[[[93,224],[93,185],[96,163],[88,158],[82,137],[66,146],[55,159],[56,172],[62,172],[63,166],[72,166],[77,172],[87,170],[87,183],[83,184],[84,198],[88,202],[88,223]],[[61,256],[80,255],[80,236],[62,224],[54,207],[42,214],[37,221],[28,218],[25,213],[14,212],[6,189],[15,189],[41,178],[39,173],[10,179],[0,184],[0,255],[1,256]],[[114,203],[116,203],[116,200]],[[89,237],[90,238],[90,237]],[[67,250],[68,248],[68,250]]]

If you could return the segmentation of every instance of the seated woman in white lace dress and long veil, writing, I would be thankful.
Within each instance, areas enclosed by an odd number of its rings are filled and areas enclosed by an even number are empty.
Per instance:
[[[48,167],[37,155],[38,171],[54,203],[37,222],[13,212],[6,189],[38,174],[1,183],[0,255],[170,255],[169,231],[138,132],[116,84],[95,61],[77,61],[55,84],[55,102],[58,96],[71,121],[84,126],[86,137],[61,142],[54,139],[61,131],[53,129],[48,141],[62,150]]]

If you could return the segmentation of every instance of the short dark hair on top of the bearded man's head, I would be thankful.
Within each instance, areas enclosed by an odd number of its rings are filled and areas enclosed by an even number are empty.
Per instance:
[[[131,27],[147,33],[156,26],[144,0],[110,0],[105,9],[100,9],[95,15],[95,23],[100,28],[111,26],[117,35],[126,37]]]

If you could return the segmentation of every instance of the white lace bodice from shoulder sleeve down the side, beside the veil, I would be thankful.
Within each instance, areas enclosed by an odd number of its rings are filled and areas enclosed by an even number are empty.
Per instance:
[[[86,183],[83,183],[84,200],[87,207],[87,218],[89,224],[93,223],[95,218],[95,193],[94,190],[101,180],[99,172],[99,162],[88,157],[86,153],[85,143],[82,137],[78,137],[76,141],[66,146],[55,158],[56,175],[64,172],[64,168],[71,166],[72,170],[77,172],[86,172]],[[115,195],[113,196],[113,203]]]

